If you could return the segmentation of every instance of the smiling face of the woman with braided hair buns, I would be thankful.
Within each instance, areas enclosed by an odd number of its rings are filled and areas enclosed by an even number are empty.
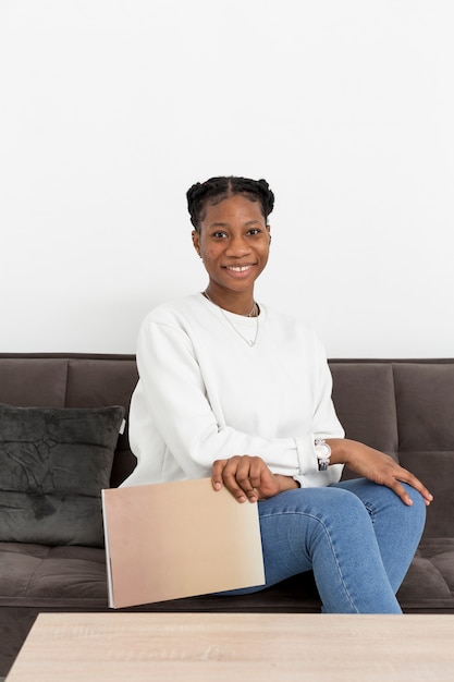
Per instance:
[[[259,202],[242,194],[207,204],[199,231],[193,231],[193,243],[201,256],[218,293],[247,292],[268,261],[270,229]]]

